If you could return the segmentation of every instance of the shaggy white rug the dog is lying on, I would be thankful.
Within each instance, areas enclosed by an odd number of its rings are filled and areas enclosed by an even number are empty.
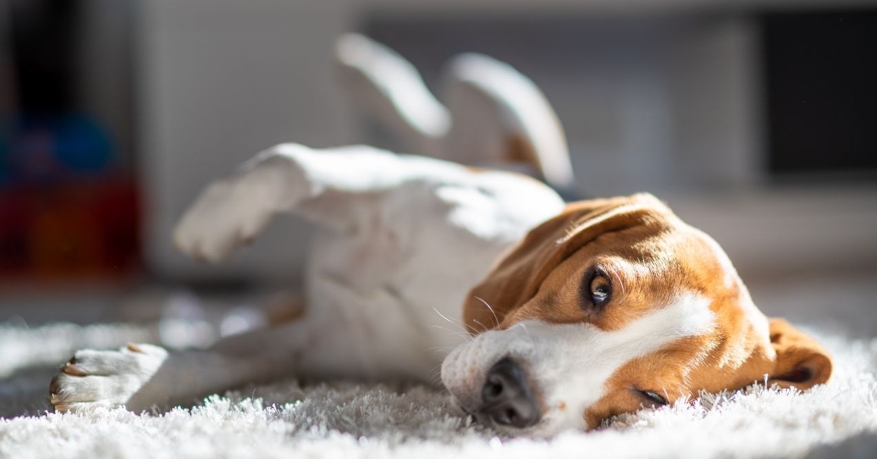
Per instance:
[[[402,384],[288,381],[167,413],[46,414],[52,367],[75,348],[157,342],[159,327],[0,325],[0,457],[873,457],[877,340],[816,334],[836,367],[812,391],[753,384],[530,440],[497,437],[439,389]]]

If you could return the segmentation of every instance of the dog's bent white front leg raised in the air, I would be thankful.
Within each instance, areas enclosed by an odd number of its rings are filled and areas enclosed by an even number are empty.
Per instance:
[[[344,233],[374,210],[381,191],[467,173],[453,163],[372,147],[314,150],[282,144],[210,184],[177,226],[175,244],[183,253],[216,262],[253,240],[276,212],[296,212]]]

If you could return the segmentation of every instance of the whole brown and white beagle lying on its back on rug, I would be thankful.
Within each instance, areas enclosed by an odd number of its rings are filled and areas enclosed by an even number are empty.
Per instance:
[[[505,149],[567,184],[562,131],[523,75],[485,56],[456,62],[452,81],[473,95],[458,100],[493,107],[485,124],[498,127],[485,139],[447,126],[477,108],[403,107],[429,95],[386,48],[347,36],[339,61],[372,108],[434,157],[283,144],[210,184],[177,226],[176,246],[216,262],[279,212],[310,219],[307,310],[205,350],[81,350],[53,378],[56,411],[140,411],[289,376],[431,381],[440,367],[475,420],[551,435],[698,391],[755,381],[803,390],[831,376],[824,348],[759,312],[717,242],[656,197],[566,204],[529,176],[435,157]],[[552,116],[527,120],[538,111]]]

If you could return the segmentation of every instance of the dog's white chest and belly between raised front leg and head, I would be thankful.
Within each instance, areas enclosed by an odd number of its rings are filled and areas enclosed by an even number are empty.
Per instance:
[[[315,235],[306,279],[315,341],[304,366],[319,377],[438,382],[445,355],[467,338],[468,290],[555,203],[521,212],[520,200],[486,197],[483,186],[429,183],[375,199],[351,233]]]

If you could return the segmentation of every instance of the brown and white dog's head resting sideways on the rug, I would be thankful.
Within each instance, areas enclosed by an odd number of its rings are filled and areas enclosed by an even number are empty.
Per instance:
[[[831,375],[824,349],[759,312],[722,248],[651,195],[568,205],[474,287],[464,319],[496,327],[472,326],[442,381],[509,433],[594,428],[765,375],[799,389]]]

